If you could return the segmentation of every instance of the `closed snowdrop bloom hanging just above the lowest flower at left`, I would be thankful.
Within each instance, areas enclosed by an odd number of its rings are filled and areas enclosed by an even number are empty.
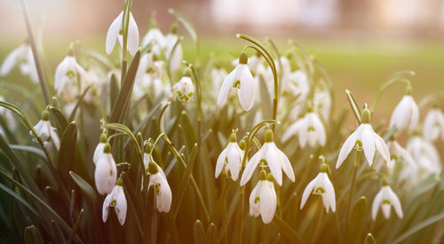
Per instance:
[[[115,186],[116,179],[117,167],[111,154],[111,146],[107,144],[103,147],[103,153],[99,156],[94,171],[97,191],[102,195],[111,193]]]

